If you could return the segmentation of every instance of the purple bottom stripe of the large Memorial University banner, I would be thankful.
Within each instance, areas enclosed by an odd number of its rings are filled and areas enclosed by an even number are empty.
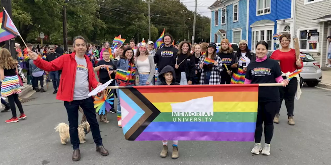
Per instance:
[[[253,142],[254,132],[142,132],[135,141],[236,141]]]

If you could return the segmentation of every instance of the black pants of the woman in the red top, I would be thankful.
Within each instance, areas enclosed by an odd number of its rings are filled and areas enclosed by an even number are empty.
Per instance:
[[[284,78],[286,79],[286,77]],[[280,96],[280,104],[277,110],[277,114],[279,114],[280,108],[282,106],[283,100],[285,100],[285,106],[287,109],[287,116],[293,116],[294,113],[294,97],[297,92],[298,80],[297,78],[292,78],[286,87],[279,86],[279,96]]]

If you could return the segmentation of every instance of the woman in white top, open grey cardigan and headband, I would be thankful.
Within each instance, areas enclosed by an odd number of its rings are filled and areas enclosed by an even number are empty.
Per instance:
[[[153,85],[155,64],[153,55],[147,51],[146,43],[138,44],[138,51],[136,54],[136,60],[134,61],[136,66],[136,85]]]

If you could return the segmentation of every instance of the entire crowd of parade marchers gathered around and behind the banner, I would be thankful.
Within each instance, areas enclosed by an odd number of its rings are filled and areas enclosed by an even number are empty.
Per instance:
[[[11,109],[12,118],[7,123],[25,119],[18,94],[21,92],[21,81],[32,81],[36,92],[44,92],[44,74],[52,79],[56,98],[65,102],[68,113],[72,160],[80,159],[78,140],[78,108],[81,107],[91,127],[96,150],[101,155],[109,152],[103,147],[99,125],[93,105],[93,98],[87,94],[98,85],[114,79],[110,86],[130,85],[208,85],[208,84],[249,84],[249,83],[282,83],[281,86],[259,87],[258,115],[256,121],[255,145],[252,153],[270,154],[270,143],[273,136],[273,123],[279,123],[281,103],[285,100],[288,123],[294,125],[294,99],[300,92],[299,78],[287,80],[287,74],[301,69],[303,63],[296,58],[294,49],[289,48],[291,36],[283,34],[279,41],[281,49],[267,56],[269,45],[260,41],[256,52],[252,52],[246,40],[239,42],[235,52],[229,41],[223,39],[219,49],[215,43],[191,45],[182,41],[172,44],[170,34],[163,37],[164,45],[155,49],[154,42],[128,45],[114,48],[106,42],[102,47],[88,44],[77,36],[73,40],[73,52],[64,52],[60,45],[28,48],[18,52],[14,59],[7,49],[0,51],[0,76],[2,80],[1,95],[9,103],[2,103],[5,110]],[[19,45],[17,45],[17,49]],[[27,78],[20,73],[21,68],[28,70]],[[99,81],[95,79],[97,72]],[[38,87],[40,82],[40,88]],[[118,89],[114,91],[118,98]],[[21,115],[17,117],[15,104]],[[118,127],[121,127],[121,107],[117,102]],[[264,123],[264,129],[262,124]],[[265,144],[261,145],[264,130]],[[167,156],[167,141],[162,141],[161,157]],[[179,157],[178,141],[173,141],[171,158]]]

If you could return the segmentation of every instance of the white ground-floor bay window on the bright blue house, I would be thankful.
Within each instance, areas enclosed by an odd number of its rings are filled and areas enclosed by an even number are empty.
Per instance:
[[[268,35],[268,30],[271,30],[271,50],[274,50],[274,39],[273,39],[273,34],[274,34],[274,25],[259,25],[259,26],[256,26],[256,27],[252,27],[252,50],[255,50],[255,46],[258,42],[261,41],[261,31],[264,31],[264,40],[265,42],[267,42],[267,35]],[[253,35],[253,32],[254,32],[254,35]],[[258,38],[256,38],[256,32],[259,33],[258,35]],[[256,42],[254,42],[256,41]],[[270,41],[270,40],[269,40]]]

